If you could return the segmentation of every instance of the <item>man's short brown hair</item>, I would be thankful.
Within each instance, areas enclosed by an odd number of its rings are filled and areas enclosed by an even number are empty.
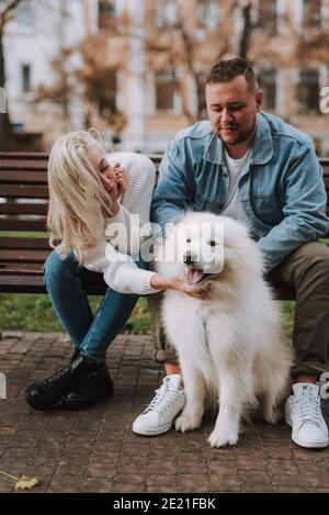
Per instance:
[[[242,57],[217,60],[206,77],[206,85],[230,82],[241,75],[246,78],[248,90],[256,92],[259,89],[256,74],[251,64]]]

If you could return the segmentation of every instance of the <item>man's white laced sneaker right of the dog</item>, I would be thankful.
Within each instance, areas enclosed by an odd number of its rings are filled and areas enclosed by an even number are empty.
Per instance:
[[[293,392],[284,410],[285,422],[293,428],[293,441],[300,447],[327,447],[328,427],[321,413],[319,388],[310,383],[296,383]]]

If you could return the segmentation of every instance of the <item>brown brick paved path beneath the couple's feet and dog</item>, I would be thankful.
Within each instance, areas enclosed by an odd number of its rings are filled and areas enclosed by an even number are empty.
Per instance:
[[[22,395],[70,352],[63,334],[3,333],[0,470],[41,478],[35,492],[329,492],[329,450],[295,446],[285,424],[245,425],[235,448],[212,449],[213,422],[185,435],[134,435],[161,381],[149,336],[120,336],[107,352],[114,398],[83,412],[36,412]],[[326,403],[327,422],[329,403]],[[0,475],[0,492],[13,481]]]

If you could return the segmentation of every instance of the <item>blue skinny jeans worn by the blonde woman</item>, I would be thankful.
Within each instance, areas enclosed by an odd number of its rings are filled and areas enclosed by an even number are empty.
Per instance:
[[[136,261],[136,265],[146,268],[143,260]],[[117,293],[107,288],[93,316],[84,284],[86,269],[78,264],[72,251],[61,260],[53,250],[44,265],[44,271],[49,299],[71,342],[83,356],[103,360],[139,295]]]

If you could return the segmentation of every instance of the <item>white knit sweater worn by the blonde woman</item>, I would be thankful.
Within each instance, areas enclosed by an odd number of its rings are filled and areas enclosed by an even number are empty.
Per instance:
[[[148,157],[133,153],[109,154],[106,159],[110,165],[120,163],[127,170],[128,188],[121,199],[117,215],[113,216],[106,226],[106,239],[84,253],[83,266],[89,270],[102,272],[106,284],[121,293],[157,293],[158,290],[150,286],[155,272],[139,269],[132,258],[136,257],[140,249],[140,227],[149,222],[155,166]],[[139,225],[134,223],[134,214],[139,215]],[[123,234],[123,226],[126,235]]]

